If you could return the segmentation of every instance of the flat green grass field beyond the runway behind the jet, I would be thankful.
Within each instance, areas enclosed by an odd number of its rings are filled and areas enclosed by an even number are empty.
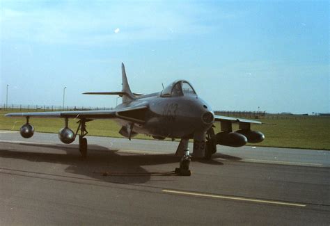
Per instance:
[[[0,129],[19,130],[25,123],[25,118],[6,118],[4,115],[15,111],[0,111]],[[251,129],[262,131],[265,140],[257,146],[269,147],[296,147],[315,150],[330,150],[330,117],[317,116],[292,116],[266,118],[260,121],[276,124],[253,125]],[[64,126],[63,119],[41,119],[31,118],[31,124],[36,131],[57,133]],[[75,131],[77,120],[70,120],[69,127]],[[216,131],[220,125],[216,123]],[[120,127],[113,120],[95,120],[87,123],[89,135],[122,137],[118,134]],[[237,125],[233,125],[235,131]],[[1,134],[0,134],[1,136]],[[149,136],[139,135],[135,138],[146,138]],[[253,144],[254,145],[254,144]]]

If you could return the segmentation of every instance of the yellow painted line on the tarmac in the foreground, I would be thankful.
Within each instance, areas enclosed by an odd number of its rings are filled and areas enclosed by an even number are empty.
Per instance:
[[[238,200],[238,201],[245,201],[245,202],[260,202],[260,203],[267,203],[267,204],[278,204],[278,205],[285,205],[285,206],[292,206],[292,207],[306,207],[305,204],[297,204],[293,202],[278,202],[278,201],[271,201],[271,200],[257,200],[252,198],[246,197],[234,197],[234,196],[227,196],[227,195],[211,195],[205,193],[194,193],[194,192],[187,192],[187,191],[174,191],[174,190],[163,190],[164,193],[173,193],[173,194],[180,194],[180,195],[193,195],[198,197],[216,197],[225,200]]]

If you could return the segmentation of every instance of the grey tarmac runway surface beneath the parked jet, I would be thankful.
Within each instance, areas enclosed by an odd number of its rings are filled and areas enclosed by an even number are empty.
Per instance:
[[[176,142],[87,138],[0,131],[0,225],[330,224],[330,152],[220,146],[180,177]]]

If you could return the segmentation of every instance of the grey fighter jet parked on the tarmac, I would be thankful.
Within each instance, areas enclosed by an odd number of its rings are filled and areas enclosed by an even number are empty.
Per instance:
[[[251,124],[262,122],[214,115],[210,105],[198,97],[188,81],[174,81],[161,92],[135,94],[129,88],[123,63],[122,79],[123,88],[120,92],[84,92],[85,95],[119,95],[123,102],[113,110],[8,113],[6,116],[26,118],[26,124],[20,128],[24,138],[31,138],[34,133],[30,118],[63,118],[65,123],[58,131],[58,138],[70,144],[79,136],[79,151],[83,157],[87,155],[86,123],[92,120],[116,120],[121,126],[119,134],[129,140],[137,134],[146,134],[158,140],[178,138],[180,144],[175,154],[182,156],[180,167],[175,169],[178,175],[191,175],[189,139],[194,139],[192,158],[210,159],[217,152],[216,145],[241,147],[246,143],[260,143],[265,138],[260,131],[251,130]],[[68,127],[72,118],[79,120],[76,132]],[[218,134],[213,129],[216,122],[221,126]],[[233,123],[239,124],[238,131],[233,131]]]

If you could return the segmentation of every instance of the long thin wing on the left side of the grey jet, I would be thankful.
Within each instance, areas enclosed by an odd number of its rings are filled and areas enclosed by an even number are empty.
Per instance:
[[[132,106],[116,110],[100,111],[49,111],[49,112],[28,112],[28,113],[8,113],[7,117],[34,117],[34,118],[84,118],[84,119],[111,119],[121,118],[130,122],[144,122],[144,115],[148,106]]]

